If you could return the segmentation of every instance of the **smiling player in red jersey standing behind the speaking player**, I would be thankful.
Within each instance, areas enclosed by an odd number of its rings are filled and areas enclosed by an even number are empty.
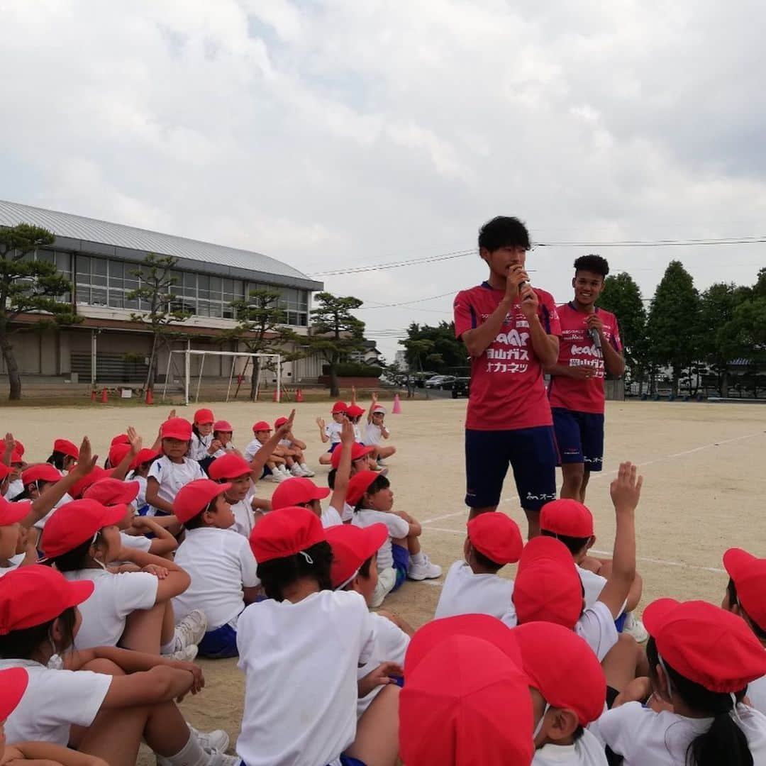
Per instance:
[[[548,399],[561,456],[561,497],[585,502],[591,471],[604,460],[604,378],[622,375],[625,361],[614,314],[595,306],[609,273],[607,260],[575,260],[575,300],[558,306],[561,345],[548,368]]]

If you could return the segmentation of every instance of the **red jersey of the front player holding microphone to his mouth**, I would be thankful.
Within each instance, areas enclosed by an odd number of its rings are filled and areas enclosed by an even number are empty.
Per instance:
[[[534,288],[539,300],[540,322],[548,335],[558,336],[556,304],[551,293]],[[455,335],[486,322],[500,304],[505,290],[493,290],[488,283],[457,293],[453,306]],[[479,357],[471,359],[471,386],[466,428],[473,430],[515,430],[552,425],[551,408],[545,396],[545,382],[532,341],[529,322],[515,303],[502,322],[496,339]]]

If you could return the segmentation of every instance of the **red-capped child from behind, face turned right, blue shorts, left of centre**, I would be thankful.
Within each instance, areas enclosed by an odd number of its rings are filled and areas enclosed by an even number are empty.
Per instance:
[[[230,489],[230,483],[198,479],[182,487],[173,502],[186,530],[175,563],[191,578],[173,599],[173,611],[182,619],[205,614],[208,630],[198,648],[201,656],[213,658],[237,656],[237,618],[255,601],[260,584],[250,544],[231,529],[234,514],[225,496]]]

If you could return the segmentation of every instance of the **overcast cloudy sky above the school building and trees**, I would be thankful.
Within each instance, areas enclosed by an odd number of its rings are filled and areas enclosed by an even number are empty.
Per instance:
[[[766,234],[758,0],[0,0],[0,198],[246,247],[318,273],[537,242]],[[600,251],[650,297],[672,258],[751,283],[766,245]],[[451,317],[475,252],[323,277],[388,358]],[[385,330],[387,332],[379,332]],[[401,334],[401,333],[400,333]]]

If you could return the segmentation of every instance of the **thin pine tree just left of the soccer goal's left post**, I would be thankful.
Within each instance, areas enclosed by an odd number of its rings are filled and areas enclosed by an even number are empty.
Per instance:
[[[138,277],[139,286],[128,293],[128,300],[140,300],[149,306],[145,311],[130,315],[133,322],[147,324],[152,331],[152,353],[149,355],[149,370],[146,372],[147,391],[154,389],[160,345],[167,347],[169,339],[181,336],[180,332],[171,329],[172,323],[185,322],[192,316],[192,312],[184,308],[172,290],[178,282],[178,278],[172,274],[177,263],[178,258],[170,255],[149,253],[142,260],[141,267],[130,272],[133,277]]]

